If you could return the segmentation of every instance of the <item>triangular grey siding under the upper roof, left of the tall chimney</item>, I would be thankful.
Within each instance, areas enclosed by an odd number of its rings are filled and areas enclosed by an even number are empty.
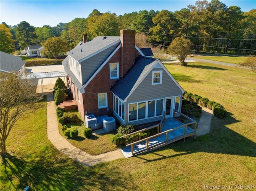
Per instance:
[[[82,84],[85,84],[86,81],[88,81],[88,79],[95,73],[98,67],[100,67],[100,65],[106,60],[106,58],[112,53],[112,51],[114,51],[118,44],[119,42],[80,63]]]

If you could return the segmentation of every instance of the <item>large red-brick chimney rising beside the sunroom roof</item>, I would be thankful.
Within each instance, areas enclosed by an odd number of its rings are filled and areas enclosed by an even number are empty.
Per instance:
[[[121,75],[124,77],[125,73],[132,67],[135,62],[135,30],[120,30],[121,38]]]

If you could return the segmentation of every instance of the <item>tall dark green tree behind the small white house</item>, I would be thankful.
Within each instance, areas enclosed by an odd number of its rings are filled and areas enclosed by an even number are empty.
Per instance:
[[[36,39],[35,28],[30,26],[26,21],[22,21],[17,26],[16,40],[19,42],[20,48],[32,45],[33,40]]]

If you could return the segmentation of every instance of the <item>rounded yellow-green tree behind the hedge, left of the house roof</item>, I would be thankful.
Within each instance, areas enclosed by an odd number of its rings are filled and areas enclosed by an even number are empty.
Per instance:
[[[45,56],[54,56],[58,58],[59,54],[65,54],[68,51],[68,43],[60,37],[52,37],[42,44],[44,46],[43,53]]]

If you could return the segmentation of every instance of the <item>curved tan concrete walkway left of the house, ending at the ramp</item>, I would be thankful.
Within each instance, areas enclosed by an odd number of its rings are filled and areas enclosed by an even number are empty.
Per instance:
[[[93,166],[102,162],[112,161],[118,158],[124,158],[120,149],[100,154],[97,156],[91,156],[86,152],[74,147],[64,137],[59,134],[58,122],[56,116],[56,107],[52,93],[47,94],[47,137],[52,144],[60,150],[60,152],[66,154],[70,158],[78,161],[85,166]]]

